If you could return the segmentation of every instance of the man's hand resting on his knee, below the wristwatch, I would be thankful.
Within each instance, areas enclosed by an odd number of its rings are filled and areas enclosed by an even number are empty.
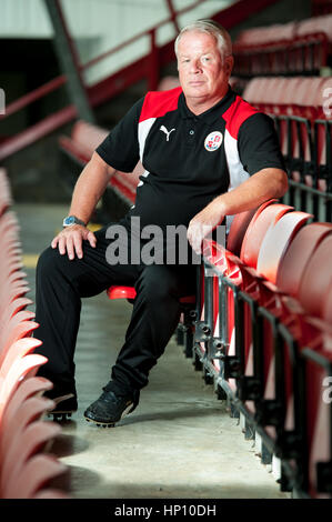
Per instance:
[[[69,259],[74,259],[76,254],[79,259],[83,257],[82,241],[88,240],[92,248],[95,247],[97,239],[91,230],[88,230],[81,224],[73,224],[68,227],[56,235],[51,242],[52,249],[58,247],[61,255],[68,254]]]

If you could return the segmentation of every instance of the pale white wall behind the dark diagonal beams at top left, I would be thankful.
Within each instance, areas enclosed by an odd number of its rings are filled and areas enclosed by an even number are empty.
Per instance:
[[[234,0],[207,0],[180,17],[180,26],[207,18]],[[177,9],[193,0],[173,0]],[[81,63],[112,49],[134,34],[154,27],[169,17],[165,0],[62,0],[66,19],[78,47]],[[53,30],[43,0],[0,0],[0,38],[52,38]],[[158,43],[175,37],[172,23],[157,34]],[[149,50],[143,37],[133,44],[104,59],[85,72],[85,82],[93,84]]]

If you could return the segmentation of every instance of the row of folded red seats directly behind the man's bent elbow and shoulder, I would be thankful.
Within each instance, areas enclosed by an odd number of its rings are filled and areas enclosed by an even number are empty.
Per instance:
[[[254,78],[243,98],[274,119],[291,179],[332,193],[332,77]],[[331,221],[331,201],[322,201],[320,219]]]

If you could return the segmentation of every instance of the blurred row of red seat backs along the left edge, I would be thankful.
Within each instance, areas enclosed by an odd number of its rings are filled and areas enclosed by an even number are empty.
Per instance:
[[[46,422],[53,401],[42,396],[52,383],[36,377],[47,362],[33,353],[41,344],[31,334],[38,328],[27,310],[29,287],[22,271],[19,227],[10,210],[11,192],[0,169],[0,498],[68,498],[51,481],[66,466],[48,452],[60,426]]]

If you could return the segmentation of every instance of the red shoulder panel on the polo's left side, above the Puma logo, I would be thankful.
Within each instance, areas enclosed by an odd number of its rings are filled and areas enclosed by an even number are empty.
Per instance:
[[[175,87],[175,89],[170,91],[148,92],[144,98],[140,122],[148,120],[148,118],[160,118],[167,112],[177,110],[181,92],[181,87]]]

